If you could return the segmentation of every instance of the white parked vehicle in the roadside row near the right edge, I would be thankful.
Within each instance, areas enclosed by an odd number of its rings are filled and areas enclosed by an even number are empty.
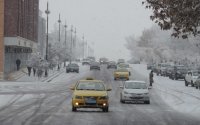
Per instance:
[[[188,73],[185,75],[185,86],[191,85],[194,87],[194,84],[199,76],[199,71],[188,71]]]

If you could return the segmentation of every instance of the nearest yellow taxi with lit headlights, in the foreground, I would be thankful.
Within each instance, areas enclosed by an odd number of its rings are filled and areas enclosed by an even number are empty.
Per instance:
[[[101,108],[103,112],[108,112],[108,91],[111,89],[107,89],[103,81],[92,78],[79,80],[71,90],[72,111],[77,111],[77,108]]]

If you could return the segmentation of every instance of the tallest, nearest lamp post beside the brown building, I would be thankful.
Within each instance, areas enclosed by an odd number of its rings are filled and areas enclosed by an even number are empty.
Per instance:
[[[50,14],[50,11],[49,11],[49,3],[47,2],[47,9],[45,11],[46,15],[47,15],[47,33],[46,33],[46,61],[48,61],[48,42],[49,42],[49,14]],[[48,72],[47,72],[47,69],[45,69],[45,77],[48,76]]]

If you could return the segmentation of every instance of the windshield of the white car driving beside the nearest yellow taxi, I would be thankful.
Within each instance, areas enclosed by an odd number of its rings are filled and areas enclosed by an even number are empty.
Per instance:
[[[140,82],[126,82],[125,88],[126,89],[147,89],[147,84],[140,83]]]

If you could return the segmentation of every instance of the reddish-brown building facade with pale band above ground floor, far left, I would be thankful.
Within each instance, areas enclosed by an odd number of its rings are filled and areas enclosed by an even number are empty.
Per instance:
[[[26,65],[37,50],[39,0],[0,0],[1,78]],[[2,48],[3,47],[3,48]]]

